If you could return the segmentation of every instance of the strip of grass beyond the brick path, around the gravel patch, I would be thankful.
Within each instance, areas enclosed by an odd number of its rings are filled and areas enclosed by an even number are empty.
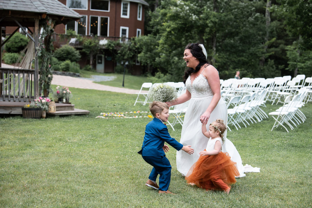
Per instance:
[[[123,75],[123,74],[115,74],[115,73],[98,73],[98,72],[90,72],[81,70],[80,75],[82,77],[91,77],[91,75],[102,75],[102,76],[115,76],[116,78],[111,81],[101,81],[95,82],[101,85],[109,85],[112,87],[122,87],[122,81],[124,79],[124,88],[129,89],[141,89],[141,86],[144,82],[150,82],[146,76],[134,76],[134,75]]]

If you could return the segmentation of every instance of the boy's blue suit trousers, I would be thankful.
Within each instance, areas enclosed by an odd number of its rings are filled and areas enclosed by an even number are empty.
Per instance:
[[[159,174],[159,190],[167,191],[171,179],[171,165],[166,156],[142,156],[145,162],[153,166],[149,180],[156,181]]]

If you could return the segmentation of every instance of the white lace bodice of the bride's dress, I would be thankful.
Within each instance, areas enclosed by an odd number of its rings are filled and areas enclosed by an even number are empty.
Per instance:
[[[212,96],[212,90],[208,84],[208,80],[202,74],[199,74],[193,84],[191,83],[191,76],[185,82],[186,89],[191,93],[192,98],[202,98]]]

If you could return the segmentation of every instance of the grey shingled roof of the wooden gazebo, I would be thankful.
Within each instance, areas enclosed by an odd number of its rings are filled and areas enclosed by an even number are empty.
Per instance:
[[[48,15],[72,17],[76,19],[82,17],[79,13],[66,7],[58,0],[1,0],[0,13],[1,10],[45,13]]]

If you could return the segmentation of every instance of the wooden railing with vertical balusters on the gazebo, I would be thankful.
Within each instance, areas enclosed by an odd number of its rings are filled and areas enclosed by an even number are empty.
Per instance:
[[[33,69],[0,68],[0,101],[30,102],[38,92]]]

